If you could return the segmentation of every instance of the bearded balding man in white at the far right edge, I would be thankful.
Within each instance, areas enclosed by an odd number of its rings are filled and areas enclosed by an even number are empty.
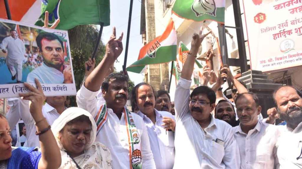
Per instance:
[[[280,116],[287,122],[278,139],[280,168],[302,168],[302,93],[292,86],[281,86],[274,94],[276,109],[268,118]],[[276,116],[278,113],[278,116]]]

